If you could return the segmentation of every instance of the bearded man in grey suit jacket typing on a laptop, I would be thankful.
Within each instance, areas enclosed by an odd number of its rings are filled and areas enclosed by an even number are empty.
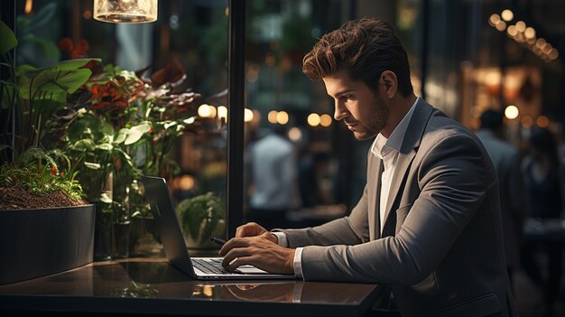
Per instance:
[[[219,251],[224,265],[391,284],[403,316],[514,315],[495,168],[475,135],[413,94],[392,27],[345,23],[303,70],[324,81],[334,117],[357,139],[376,136],[363,196],[348,217],[319,227],[237,228]]]

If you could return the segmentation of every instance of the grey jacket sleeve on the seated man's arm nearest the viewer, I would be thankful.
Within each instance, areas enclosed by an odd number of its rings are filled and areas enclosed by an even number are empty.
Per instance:
[[[417,181],[420,194],[395,210],[405,217],[396,236],[356,246],[304,247],[304,280],[419,283],[439,266],[479,207],[491,211],[483,202],[486,191],[498,190],[496,173],[478,141],[457,134],[435,140],[412,162],[408,182]]]

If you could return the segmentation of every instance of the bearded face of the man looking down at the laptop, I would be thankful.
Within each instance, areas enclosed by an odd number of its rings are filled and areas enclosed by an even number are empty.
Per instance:
[[[343,120],[357,140],[378,135],[389,117],[388,106],[377,95],[377,88],[369,88],[363,81],[349,79],[346,70],[323,78],[328,95],[335,99],[336,120]]]

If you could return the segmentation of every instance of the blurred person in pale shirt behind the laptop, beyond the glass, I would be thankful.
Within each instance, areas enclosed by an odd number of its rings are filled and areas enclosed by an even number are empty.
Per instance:
[[[294,145],[283,126],[250,144],[251,192],[247,221],[286,226],[286,212],[300,205]]]

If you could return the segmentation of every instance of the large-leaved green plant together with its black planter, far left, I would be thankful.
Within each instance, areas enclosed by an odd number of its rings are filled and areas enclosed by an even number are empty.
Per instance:
[[[0,67],[9,74],[2,80],[0,100],[14,120],[11,144],[0,145],[0,197],[5,200],[0,208],[0,284],[7,284],[92,261],[94,206],[79,200],[82,191],[69,156],[42,145],[46,119],[88,80],[90,70],[82,67],[92,59],[16,68],[9,51],[17,40],[1,21],[0,38]],[[22,197],[27,199],[8,200]]]

